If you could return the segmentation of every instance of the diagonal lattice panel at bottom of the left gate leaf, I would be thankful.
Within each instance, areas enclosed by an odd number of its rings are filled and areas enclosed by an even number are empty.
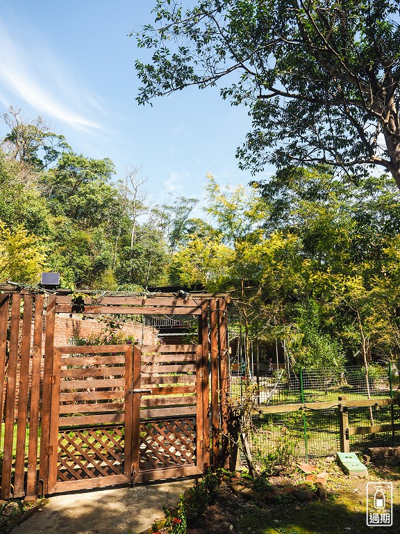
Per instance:
[[[120,474],[124,474],[124,428],[60,432],[58,480],[84,480]]]

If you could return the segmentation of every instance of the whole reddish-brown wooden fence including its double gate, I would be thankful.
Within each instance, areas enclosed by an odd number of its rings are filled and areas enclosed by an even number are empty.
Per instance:
[[[65,293],[0,294],[1,499],[107,486],[114,476],[135,482],[200,474],[210,460],[225,465],[226,304],[225,296],[204,294],[88,295],[77,308]],[[54,346],[57,314],[65,312],[192,314],[199,346]]]

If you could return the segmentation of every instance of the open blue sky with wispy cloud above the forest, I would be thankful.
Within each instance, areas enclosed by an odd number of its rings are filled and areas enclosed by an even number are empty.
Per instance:
[[[154,202],[201,198],[206,172],[246,184],[235,159],[250,127],[244,108],[215,88],[135,102],[134,63],[146,52],[127,35],[153,22],[154,3],[0,0],[1,113],[11,104],[25,118],[42,115],[75,152],[112,159],[118,177],[140,167]]]

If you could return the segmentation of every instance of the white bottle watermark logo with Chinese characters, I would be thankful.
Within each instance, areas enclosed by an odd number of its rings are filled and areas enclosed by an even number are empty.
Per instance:
[[[367,483],[367,526],[392,526],[393,485],[391,482]]]

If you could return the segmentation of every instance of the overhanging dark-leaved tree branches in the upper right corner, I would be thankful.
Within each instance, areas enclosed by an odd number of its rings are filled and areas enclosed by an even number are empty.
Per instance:
[[[400,188],[400,28],[396,0],[158,0],[136,61],[137,100],[217,86],[249,106],[242,168],[381,165]]]

